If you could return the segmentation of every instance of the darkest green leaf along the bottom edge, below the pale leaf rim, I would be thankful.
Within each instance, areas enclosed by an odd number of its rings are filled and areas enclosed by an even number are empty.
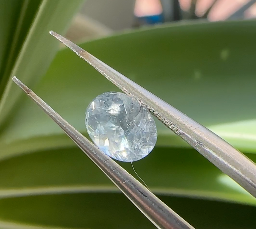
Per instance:
[[[253,229],[255,207],[221,202],[160,196],[197,229]],[[154,229],[123,195],[70,193],[0,200],[0,227]]]

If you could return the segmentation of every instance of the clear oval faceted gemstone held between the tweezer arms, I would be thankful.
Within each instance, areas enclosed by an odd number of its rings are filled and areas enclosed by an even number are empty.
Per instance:
[[[119,161],[138,161],[156,144],[156,125],[150,112],[120,92],[106,92],[93,99],[86,110],[85,125],[92,141]]]

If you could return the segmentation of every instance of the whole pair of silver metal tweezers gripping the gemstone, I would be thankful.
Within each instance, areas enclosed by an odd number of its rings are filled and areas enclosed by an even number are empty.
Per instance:
[[[240,151],[229,145],[206,127],[187,117],[181,111],[164,102],[151,92],[139,86],[101,60],[89,54],[65,37],[50,32],[60,42],[70,48],[80,58],[93,66],[110,82],[126,94],[139,100],[165,126],[184,139],[221,171],[233,178],[252,196],[256,197],[256,164]],[[49,105],[40,99],[15,76],[13,81],[48,114],[82,151],[106,174],[125,196],[150,220],[161,229],[192,229],[188,222],[158,199],[126,170],[105,155],[97,146],[67,123]]]

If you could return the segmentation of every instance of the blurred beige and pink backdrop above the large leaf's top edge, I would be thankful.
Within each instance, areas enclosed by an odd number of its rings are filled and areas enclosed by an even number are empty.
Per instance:
[[[254,0],[87,0],[67,37],[81,41],[172,21],[246,20],[255,17]]]

